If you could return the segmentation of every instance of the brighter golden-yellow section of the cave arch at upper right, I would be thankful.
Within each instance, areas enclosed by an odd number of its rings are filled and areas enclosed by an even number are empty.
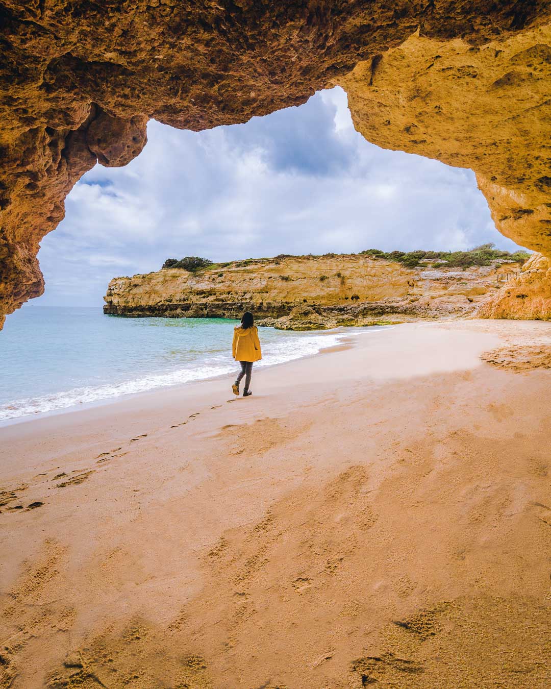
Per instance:
[[[474,169],[497,229],[551,256],[549,26],[485,45],[415,34],[338,83],[368,141]]]

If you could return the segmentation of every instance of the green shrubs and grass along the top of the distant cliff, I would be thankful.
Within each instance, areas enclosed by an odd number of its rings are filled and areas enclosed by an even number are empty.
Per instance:
[[[494,244],[481,244],[479,247],[469,249],[468,251],[381,251],[381,249],[366,249],[360,251],[363,256],[369,258],[382,258],[383,260],[396,261],[402,263],[406,268],[415,268],[423,262],[426,267],[430,265],[433,268],[468,268],[475,265],[492,265],[498,260],[513,261],[514,263],[525,263],[530,254],[528,251],[515,251],[511,254],[510,251],[503,251],[496,249]],[[259,263],[280,263],[280,260],[285,258],[338,258],[339,256],[353,256],[354,254],[323,254],[322,256],[315,256],[314,254],[305,254],[302,256],[292,256],[291,254],[279,254],[275,258],[245,258],[242,260],[227,261],[226,263],[213,263],[209,258],[200,258],[199,256],[185,256],[180,258],[167,258],[163,263],[163,268],[181,268],[190,273],[195,273],[202,270],[212,270],[231,267],[246,267]],[[219,277],[222,274],[219,274]],[[337,277],[341,277],[337,273]],[[282,276],[282,280],[290,280],[289,276]],[[327,276],[320,276],[323,282]]]

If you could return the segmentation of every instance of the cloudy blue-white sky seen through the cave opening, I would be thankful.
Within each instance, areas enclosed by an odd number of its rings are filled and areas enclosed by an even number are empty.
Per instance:
[[[96,165],[67,196],[34,305],[101,306],[111,278],[166,258],[518,248],[470,170],[368,143],[338,87],[205,132],[150,121],[147,136],[132,163]]]

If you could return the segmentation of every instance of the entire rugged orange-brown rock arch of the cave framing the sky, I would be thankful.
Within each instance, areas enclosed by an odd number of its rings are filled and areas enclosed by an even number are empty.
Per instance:
[[[1,0],[0,21],[0,325],[42,293],[72,185],[136,156],[147,119],[244,122],[334,83],[367,138],[472,167],[498,228],[551,255],[547,0]]]

